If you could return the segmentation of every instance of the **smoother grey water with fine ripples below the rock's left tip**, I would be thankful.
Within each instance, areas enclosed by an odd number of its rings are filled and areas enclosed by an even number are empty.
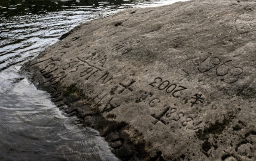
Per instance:
[[[67,117],[19,75],[20,66],[0,73],[0,160],[118,161],[97,131]]]

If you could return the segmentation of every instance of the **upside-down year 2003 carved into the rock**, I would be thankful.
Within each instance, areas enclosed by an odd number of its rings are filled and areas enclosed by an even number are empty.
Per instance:
[[[161,91],[164,90],[165,93],[170,94],[175,98],[180,97],[177,92],[187,89],[186,87],[177,85],[176,83],[170,83],[169,80],[163,81],[160,77],[155,78],[154,82],[149,83],[149,85]]]

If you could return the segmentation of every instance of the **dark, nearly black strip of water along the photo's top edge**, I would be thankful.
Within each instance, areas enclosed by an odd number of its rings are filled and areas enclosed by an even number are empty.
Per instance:
[[[0,16],[10,17],[16,15],[35,15],[46,12],[58,12],[64,9],[74,8],[98,8],[128,6],[129,4],[153,4],[162,3],[163,0],[1,0]],[[172,3],[169,0],[168,3]],[[180,0],[182,1],[182,0]]]

